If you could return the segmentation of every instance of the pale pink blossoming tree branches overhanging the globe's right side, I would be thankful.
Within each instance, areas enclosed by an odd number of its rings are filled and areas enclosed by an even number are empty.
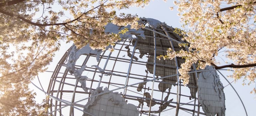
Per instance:
[[[193,63],[200,69],[212,65],[215,69],[230,68],[235,80],[256,79],[256,1],[253,0],[176,0],[188,50],[169,53],[165,58],[183,57],[179,73],[188,83]],[[172,7],[170,9],[173,9]],[[231,63],[219,65],[216,57],[225,52]],[[252,92],[256,92],[255,88]]]

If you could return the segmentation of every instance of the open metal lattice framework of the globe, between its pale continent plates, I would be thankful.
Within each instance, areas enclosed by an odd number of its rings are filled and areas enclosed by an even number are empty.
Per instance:
[[[157,28],[149,25],[143,30],[145,39],[137,36],[137,39],[119,41],[113,52],[103,51],[98,62],[96,54],[79,57],[74,68],[86,65],[81,75],[88,77],[88,91],[83,89],[74,74],[68,72],[66,67],[71,48],[67,50],[56,66],[47,90],[51,96],[49,114],[82,115],[84,105],[93,97],[90,91],[107,87],[110,91],[119,92],[127,103],[136,105],[140,115],[205,115],[197,100],[196,65],[191,67],[189,84],[184,86],[178,72],[184,59],[156,58],[166,55],[168,48],[187,50],[179,46],[185,42],[167,25]]]

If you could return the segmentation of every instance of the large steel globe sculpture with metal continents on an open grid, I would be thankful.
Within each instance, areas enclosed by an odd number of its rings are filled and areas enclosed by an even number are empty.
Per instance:
[[[158,60],[167,49],[186,43],[174,28],[150,18],[141,18],[144,29],[106,26],[106,33],[120,35],[114,50],[93,50],[88,45],[71,46],[59,61],[47,93],[52,97],[50,114],[70,116],[198,116],[225,115],[225,95],[211,66],[202,73],[191,67],[187,86],[179,79],[182,58]],[[108,49],[107,47],[106,49]],[[212,70],[211,70],[212,69]]]

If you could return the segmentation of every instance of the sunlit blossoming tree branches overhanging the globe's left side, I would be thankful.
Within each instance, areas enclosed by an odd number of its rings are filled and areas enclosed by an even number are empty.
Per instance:
[[[119,39],[107,23],[139,28],[137,16],[116,10],[149,0],[0,0],[0,115],[43,115],[28,88],[46,70],[61,41],[104,48]]]

